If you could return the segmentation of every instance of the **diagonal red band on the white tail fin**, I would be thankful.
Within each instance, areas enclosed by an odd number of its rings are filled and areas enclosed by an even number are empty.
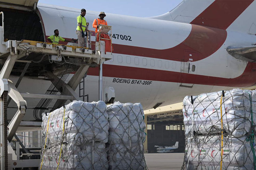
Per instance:
[[[191,24],[226,30],[254,0],[215,0]]]

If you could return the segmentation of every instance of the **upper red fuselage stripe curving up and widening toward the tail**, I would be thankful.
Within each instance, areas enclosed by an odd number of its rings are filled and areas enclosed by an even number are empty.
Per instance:
[[[114,53],[184,62],[192,58],[193,62],[195,62],[216,52],[223,45],[226,38],[226,30],[192,24],[189,36],[181,44],[173,48],[158,50],[114,44]],[[172,41],[172,39],[166,40],[166,43],[168,41]],[[189,52],[193,53],[193,56],[189,56]]]

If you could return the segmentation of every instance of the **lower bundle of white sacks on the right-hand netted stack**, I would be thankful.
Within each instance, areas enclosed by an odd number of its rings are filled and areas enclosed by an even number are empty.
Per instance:
[[[219,169],[222,160],[223,169],[234,169],[243,167],[253,169],[253,152],[247,137],[224,136],[223,150],[221,146],[221,135],[201,135],[188,139],[189,168]],[[223,152],[221,154],[221,151]],[[221,155],[223,159],[221,159]],[[191,167],[190,167],[191,166]],[[210,167],[210,168],[209,168]]]

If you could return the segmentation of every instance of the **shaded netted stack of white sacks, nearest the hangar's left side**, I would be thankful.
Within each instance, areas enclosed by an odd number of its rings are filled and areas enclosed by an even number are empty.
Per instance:
[[[108,106],[109,170],[144,170],[145,123],[140,103],[115,102]]]

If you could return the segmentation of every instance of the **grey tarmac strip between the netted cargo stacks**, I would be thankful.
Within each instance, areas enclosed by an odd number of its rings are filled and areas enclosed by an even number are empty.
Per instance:
[[[145,153],[148,170],[180,170],[184,153]]]

